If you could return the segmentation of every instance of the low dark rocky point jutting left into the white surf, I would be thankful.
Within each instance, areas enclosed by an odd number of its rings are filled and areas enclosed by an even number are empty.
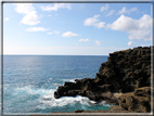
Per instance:
[[[112,92],[103,92],[103,89],[105,90],[107,85],[97,86],[94,79],[88,78],[75,81],[76,82],[65,82],[64,86],[60,86],[54,92],[54,98],[81,95],[88,96],[93,101],[106,101],[108,103],[118,104],[117,99]]]

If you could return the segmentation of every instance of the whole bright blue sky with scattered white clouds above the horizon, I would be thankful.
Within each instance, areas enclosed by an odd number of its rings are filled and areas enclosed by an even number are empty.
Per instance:
[[[150,47],[151,3],[4,3],[3,54],[108,55]]]

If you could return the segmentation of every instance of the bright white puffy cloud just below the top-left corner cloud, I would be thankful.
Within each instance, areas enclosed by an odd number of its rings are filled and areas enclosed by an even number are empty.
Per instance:
[[[21,23],[23,23],[25,25],[37,25],[38,23],[40,23],[40,21],[38,21],[38,20],[39,20],[39,17],[36,14],[36,11],[31,11],[30,13],[28,13],[27,15],[25,15],[23,17]]]

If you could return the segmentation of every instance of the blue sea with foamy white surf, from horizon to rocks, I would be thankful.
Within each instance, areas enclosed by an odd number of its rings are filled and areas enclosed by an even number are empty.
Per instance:
[[[107,56],[4,55],[3,113],[51,113],[75,109],[110,109],[112,104],[95,103],[86,96],[54,99],[65,81],[95,78]]]

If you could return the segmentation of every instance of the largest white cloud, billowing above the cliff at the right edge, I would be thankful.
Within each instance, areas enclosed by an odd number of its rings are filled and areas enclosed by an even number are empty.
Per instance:
[[[152,18],[147,14],[144,14],[139,20],[120,15],[113,24],[108,24],[106,28],[126,31],[129,34],[130,40],[151,40],[151,26]]]

